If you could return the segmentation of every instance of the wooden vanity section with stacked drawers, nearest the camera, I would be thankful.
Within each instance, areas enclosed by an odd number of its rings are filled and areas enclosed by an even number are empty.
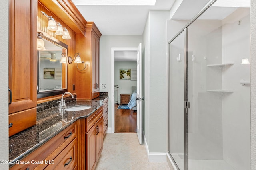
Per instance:
[[[76,121],[20,160],[29,164],[16,164],[10,170],[75,169],[78,166],[78,138],[78,121]],[[65,164],[67,165],[64,166]]]

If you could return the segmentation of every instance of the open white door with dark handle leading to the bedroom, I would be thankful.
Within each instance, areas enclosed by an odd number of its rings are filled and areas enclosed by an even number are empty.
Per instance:
[[[137,50],[137,135],[140,145],[142,144],[142,61],[141,61],[141,43]],[[144,98],[143,98],[144,100]]]

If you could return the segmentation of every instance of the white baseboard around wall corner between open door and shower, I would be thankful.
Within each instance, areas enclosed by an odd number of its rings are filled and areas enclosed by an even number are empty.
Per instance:
[[[166,153],[149,152],[148,144],[147,144],[146,137],[144,135],[143,129],[142,129],[142,136],[144,138],[146,152],[147,152],[147,155],[148,155],[148,162],[166,162],[167,161]]]

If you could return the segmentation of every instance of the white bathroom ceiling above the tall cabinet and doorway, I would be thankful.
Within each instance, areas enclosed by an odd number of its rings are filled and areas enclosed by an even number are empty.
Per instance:
[[[84,0],[83,0],[84,1]],[[170,10],[174,0],[156,0],[154,6],[78,5],[86,21],[94,21],[102,35],[142,35],[149,10]]]

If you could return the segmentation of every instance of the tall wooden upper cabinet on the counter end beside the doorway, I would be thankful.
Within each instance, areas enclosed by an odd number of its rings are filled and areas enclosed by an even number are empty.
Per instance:
[[[80,53],[86,69],[76,70],[76,93],[79,99],[94,99],[100,96],[99,53],[101,33],[94,22],[87,22],[85,37],[76,35],[76,52]],[[78,64],[79,67],[79,64]]]

